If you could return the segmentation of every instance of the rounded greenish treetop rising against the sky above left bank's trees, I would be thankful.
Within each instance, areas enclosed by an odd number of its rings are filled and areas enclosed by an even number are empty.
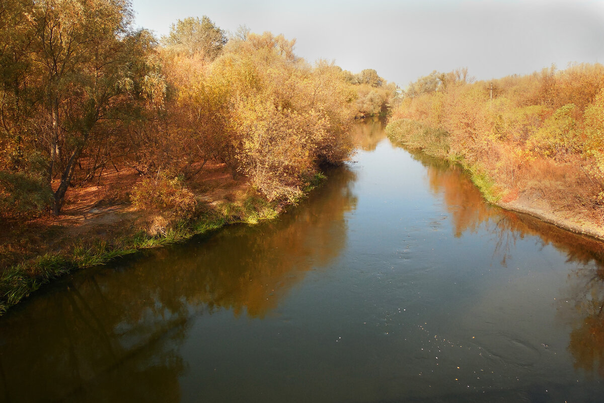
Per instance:
[[[243,31],[241,33],[243,35]],[[201,54],[209,60],[219,56],[227,42],[225,31],[221,30],[207,16],[188,17],[170,26],[168,36],[162,37],[165,47],[185,51],[189,56]]]

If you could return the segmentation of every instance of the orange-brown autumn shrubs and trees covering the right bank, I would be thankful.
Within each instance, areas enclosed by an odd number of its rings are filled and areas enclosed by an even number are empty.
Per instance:
[[[433,72],[410,85],[388,131],[461,162],[489,201],[604,235],[602,65],[475,83]]]

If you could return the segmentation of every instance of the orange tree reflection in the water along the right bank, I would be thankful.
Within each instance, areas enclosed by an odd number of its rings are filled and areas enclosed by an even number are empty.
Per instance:
[[[570,297],[557,298],[574,302],[568,349],[574,367],[594,372],[604,378],[604,247],[602,242],[573,234],[526,214],[503,210],[486,204],[476,187],[458,166],[412,153],[428,168],[428,182],[435,194],[441,194],[451,214],[454,236],[477,232],[483,228],[496,237],[493,257],[506,266],[518,239],[535,236],[540,247],[553,245],[581,268],[568,276]]]

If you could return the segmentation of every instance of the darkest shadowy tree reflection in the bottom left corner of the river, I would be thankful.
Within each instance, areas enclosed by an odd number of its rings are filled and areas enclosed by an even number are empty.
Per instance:
[[[152,291],[132,283],[115,300],[108,278],[68,280],[2,321],[5,401],[179,400],[184,317],[151,314]]]

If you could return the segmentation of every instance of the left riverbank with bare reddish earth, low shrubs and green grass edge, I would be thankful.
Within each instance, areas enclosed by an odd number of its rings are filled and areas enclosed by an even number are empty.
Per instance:
[[[194,213],[178,217],[169,209],[144,210],[130,202],[109,202],[105,185],[74,189],[65,213],[9,223],[0,237],[0,315],[52,280],[77,269],[103,265],[117,257],[184,242],[228,224],[257,224],[273,219],[297,200],[269,202],[248,180],[231,178],[223,164],[207,167],[203,180],[191,183]],[[303,196],[326,176],[310,178]],[[122,187],[136,180],[122,175]]]

